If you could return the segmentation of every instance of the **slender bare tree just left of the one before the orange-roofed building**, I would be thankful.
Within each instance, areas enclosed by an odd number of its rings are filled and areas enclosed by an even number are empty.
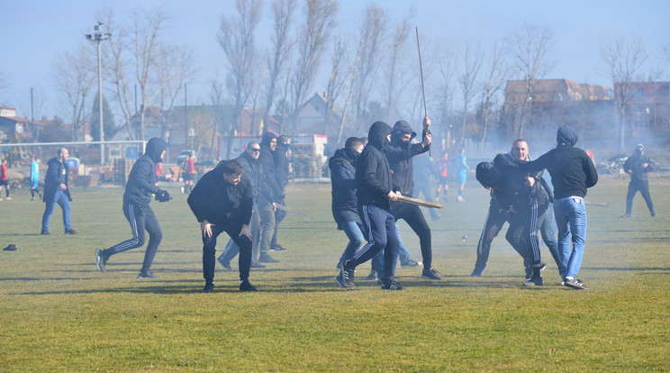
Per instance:
[[[493,102],[496,94],[504,86],[509,70],[505,65],[505,52],[493,43],[493,50],[488,60],[488,77],[482,89],[482,144],[486,141],[489,130],[489,119],[493,111]]]

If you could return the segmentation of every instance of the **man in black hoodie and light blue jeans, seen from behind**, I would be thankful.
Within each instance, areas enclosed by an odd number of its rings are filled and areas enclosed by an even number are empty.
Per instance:
[[[579,148],[575,130],[561,126],[557,131],[557,147],[529,163],[521,165],[527,172],[547,168],[554,186],[554,214],[558,228],[558,251],[566,267],[563,277],[566,287],[585,290],[577,278],[584,258],[586,241],[586,189],[598,182],[593,161]],[[573,248],[570,250],[570,241]]]

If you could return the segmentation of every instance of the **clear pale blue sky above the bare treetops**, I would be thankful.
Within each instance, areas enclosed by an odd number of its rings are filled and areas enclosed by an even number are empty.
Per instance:
[[[258,30],[258,45],[269,46],[270,0]],[[301,2],[302,4],[302,2]],[[670,1],[667,0],[385,0],[366,2],[340,0],[338,32],[353,30],[367,4],[401,20],[413,6],[413,25],[421,34],[421,50],[436,43],[478,40],[489,49],[494,41],[519,30],[524,24],[546,27],[554,46],[548,55],[553,68],[546,78],[566,78],[577,83],[611,86],[611,78],[600,54],[602,43],[616,37],[638,36],[646,41],[649,58],[644,71],[663,71],[670,80],[668,63],[661,59],[663,45],[670,44]],[[96,24],[96,14],[105,7],[117,16],[137,9],[162,9],[168,14],[167,41],[188,45],[195,51],[198,76],[188,84],[189,105],[208,102],[208,81],[222,73],[223,53],[216,41],[222,14],[231,14],[233,0],[0,0],[0,105],[15,107],[17,115],[31,116],[31,88],[40,113],[64,117],[66,113],[52,77],[59,53],[76,50],[86,42]],[[140,6],[140,7],[139,7]],[[430,51],[429,51],[430,52]],[[323,59],[322,69],[330,59]],[[665,65],[664,65],[665,64]],[[326,73],[321,71],[321,77]],[[327,77],[319,78],[313,91],[323,91]],[[181,103],[183,104],[183,103]]]

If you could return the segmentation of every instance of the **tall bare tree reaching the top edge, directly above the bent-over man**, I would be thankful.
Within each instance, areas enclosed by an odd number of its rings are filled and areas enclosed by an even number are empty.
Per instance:
[[[226,57],[229,74],[226,78],[228,92],[233,102],[233,117],[228,126],[228,152],[230,158],[232,136],[240,120],[240,114],[253,90],[254,66],[258,64],[255,32],[260,20],[261,0],[236,0],[236,16],[222,15],[217,34],[219,45]]]

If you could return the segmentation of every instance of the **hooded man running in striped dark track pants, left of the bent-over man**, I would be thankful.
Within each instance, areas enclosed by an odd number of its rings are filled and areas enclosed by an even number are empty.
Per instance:
[[[144,155],[132,165],[125,193],[123,193],[123,214],[128,219],[128,223],[131,223],[132,238],[117,243],[109,249],[95,250],[95,264],[102,272],[106,270],[107,260],[114,254],[144,245],[144,231],[146,230],[149,232],[149,244],[147,244],[144,262],[137,277],[158,277],[151,271],[151,264],[154,256],[156,256],[158,245],[163,239],[163,233],[160,231],[156,215],[149,207],[149,202],[151,202],[152,194],[156,195],[158,202],[168,202],[170,200],[167,191],[156,187],[156,164],[163,161],[167,146],[168,144],[165,141],[157,137],[149,139]]]

